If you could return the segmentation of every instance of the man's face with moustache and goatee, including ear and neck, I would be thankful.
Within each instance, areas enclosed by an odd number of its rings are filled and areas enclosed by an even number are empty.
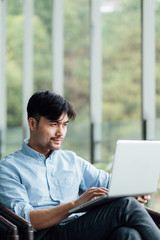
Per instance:
[[[31,130],[29,145],[44,155],[50,150],[60,149],[67,132],[68,122],[68,115],[66,113],[63,113],[57,121],[41,117],[38,124],[34,118],[31,118],[29,120]]]

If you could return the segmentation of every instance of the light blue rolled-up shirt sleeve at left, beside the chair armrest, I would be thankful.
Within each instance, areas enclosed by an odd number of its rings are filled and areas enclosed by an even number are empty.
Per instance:
[[[33,207],[29,204],[25,186],[21,183],[16,169],[7,161],[0,164],[0,203],[17,215],[30,221],[29,211]]]

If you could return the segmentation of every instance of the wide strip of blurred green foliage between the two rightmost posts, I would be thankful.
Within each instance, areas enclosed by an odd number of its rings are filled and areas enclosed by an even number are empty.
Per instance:
[[[102,23],[103,119],[104,121],[140,119],[141,19],[139,1],[123,1],[119,10],[103,16]]]

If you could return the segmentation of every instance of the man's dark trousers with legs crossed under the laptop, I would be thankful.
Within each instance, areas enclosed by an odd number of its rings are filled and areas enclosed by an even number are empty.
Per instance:
[[[35,233],[36,240],[158,240],[160,230],[134,198],[110,201]]]

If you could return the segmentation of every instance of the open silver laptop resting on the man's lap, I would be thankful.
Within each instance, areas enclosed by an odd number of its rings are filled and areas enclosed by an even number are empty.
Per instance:
[[[109,193],[69,213],[88,211],[117,197],[156,192],[160,173],[160,141],[119,140],[116,144]]]

